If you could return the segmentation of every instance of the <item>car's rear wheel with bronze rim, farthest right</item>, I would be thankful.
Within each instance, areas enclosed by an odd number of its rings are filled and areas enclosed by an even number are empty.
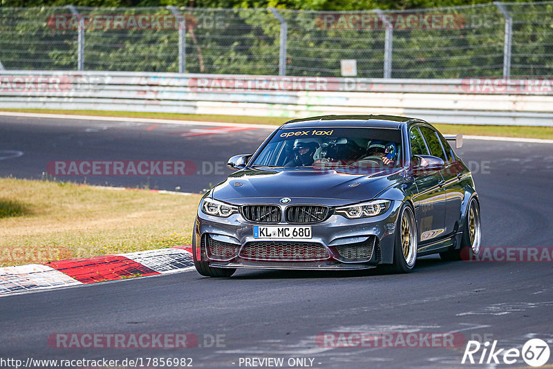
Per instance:
[[[472,198],[469,202],[465,226],[462,230],[461,247],[447,252],[440,252],[440,258],[443,261],[474,260],[480,252],[481,235],[480,205],[478,205],[476,198]]]

